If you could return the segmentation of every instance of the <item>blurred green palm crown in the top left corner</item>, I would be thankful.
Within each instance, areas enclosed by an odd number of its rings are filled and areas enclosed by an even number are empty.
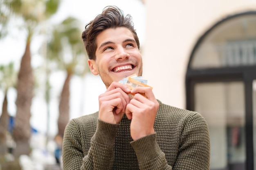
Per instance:
[[[30,41],[34,29],[58,10],[60,0],[0,0],[0,38],[7,35],[7,25],[12,18],[22,19]]]

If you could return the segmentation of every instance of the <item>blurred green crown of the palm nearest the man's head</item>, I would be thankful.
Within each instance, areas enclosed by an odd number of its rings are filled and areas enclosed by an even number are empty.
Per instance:
[[[87,64],[79,24],[76,18],[68,17],[54,26],[52,37],[47,44],[47,59],[55,62],[58,69],[81,75],[87,71]],[[82,69],[77,69],[78,65],[82,65],[79,67]]]

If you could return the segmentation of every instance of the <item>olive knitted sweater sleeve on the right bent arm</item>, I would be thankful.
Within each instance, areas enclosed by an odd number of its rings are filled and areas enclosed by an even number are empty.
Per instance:
[[[168,165],[165,154],[156,142],[156,134],[132,141],[141,170],[209,170],[210,139],[204,118],[193,113],[187,116],[183,126],[177,159]]]

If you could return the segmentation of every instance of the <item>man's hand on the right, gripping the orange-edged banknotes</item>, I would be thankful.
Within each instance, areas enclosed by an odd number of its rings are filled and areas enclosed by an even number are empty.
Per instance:
[[[126,116],[132,120],[130,133],[133,140],[155,133],[154,122],[159,103],[150,87],[136,87],[131,90],[135,96],[126,105]],[[146,97],[141,94],[145,94]]]

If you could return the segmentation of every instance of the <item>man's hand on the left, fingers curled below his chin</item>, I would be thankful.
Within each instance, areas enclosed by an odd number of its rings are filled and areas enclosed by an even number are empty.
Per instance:
[[[121,83],[113,82],[107,91],[99,95],[99,119],[117,124],[121,121],[126,105],[130,102],[130,89]]]

